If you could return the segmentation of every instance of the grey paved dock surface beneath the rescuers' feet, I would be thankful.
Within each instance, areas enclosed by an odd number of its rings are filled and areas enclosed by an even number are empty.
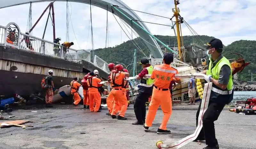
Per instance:
[[[1,149],[156,149],[157,140],[164,144],[178,141],[196,129],[196,110],[198,105],[174,106],[168,122],[171,134],[158,135],[157,128],[162,122],[163,113],[157,111],[150,132],[144,132],[142,125],[132,125],[136,120],[133,105],[126,112],[128,120],[117,120],[107,116],[106,108],[100,113],[84,110],[82,105],[54,106],[51,109],[36,108],[15,110],[5,121],[29,120],[34,127],[10,127],[0,129]],[[180,107],[180,110],[179,108]],[[182,108],[183,107],[183,108]],[[191,107],[191,108],[190,108]],[[184,109],[185,108],[185,109]],[[187,109],[187,110],[186,110]],[[32,112],[36,111],[36,112]],[[15,115],[13,118],[8,118]],[[223,110],[215,122],[216,136],[221,149],[256,148],[256,115],[239,115]],[[0,120],[3,122],[4,120]],[[205,142],[198,145],[191,142],[182,149],[202,149]]]

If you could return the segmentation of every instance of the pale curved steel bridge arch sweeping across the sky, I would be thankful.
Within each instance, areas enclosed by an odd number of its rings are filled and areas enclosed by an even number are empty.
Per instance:
[[[55,1],[66,1],[66,0],[9,0],[9,1],[0,1],[0,9],[5,8],[5,7],[11,7],[11,6],[16,6],[20,4],[28,4],[30,2],[32,3],[39,3],[39,2],[55,2]],[[77,3],[84,3],[84,4],[90,4],[90,0],[69,0],[69,2],[77,2]],[[129,18],[133,20],[141,20],[140,17],[132,10],[129,10],[130,8],[124,4],[121,0],[91,0],[91,4],[100,7],[102,9],[107,10],[108,6],[108,11],[111,12],[111,4],[112,5],[118,5],[118,9],[123,12],[125,15],[127,15]],[[128,9],[125,9],[128,8]],[[111,12],[112,13],[112,12]],[[116,14],[116,11],[114,12]],[[117,14],[116,14],[117,15]],[[117,15],[118,16],[118,15]],[[145,45],[148,47],[148,49],[151,51],[152,55],[155,58],[163,58],[163,53],[156,42],[155,39],[153,39],[151,36],[149,36],[147,33],[145,33],[143,30],[140,28],[136,27],[135,25],[131,25],[131,21],[126,19],[125,17],[121,18],[124,20],[130,27],[134,29],[134,31],[140,35],[143,39],[145,39],[147,42],[143,41]],[[143,22],[137,22],[141,27],[146,29],[149,33],[148,27],[143,23]],[[156,48],[157,47],[157,48]]]

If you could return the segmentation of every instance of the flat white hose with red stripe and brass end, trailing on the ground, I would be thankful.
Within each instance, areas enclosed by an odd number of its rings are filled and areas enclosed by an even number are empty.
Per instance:
[[[179,77],[179,78],[190,78],[191,76],[195,76],[195,78],[197,79],[203,79],[206,75],[205,74],[198,74],[198,73],[193,73],[193,74],[176,74],[175,77]],[[187,145],[188,143],[194,141],[201,129],[203,128],[203,115],[204,112],[207,110],[208,104],[209,104],[209,99],[210,99],[210,94],[211,94],[211,89],[212,89],[212,82],[208,82],[205,83],[204,85],[204,93],[203,93],[203,98],[202,98],[202,103],[201,103],[201,108],[200,108],[200,113],[198,116],[198,125],[196,127],[196,130],[193,134],[177,141],[177,142],[173,142],[171,144],[164,144],[163,141],[159,140],[156,142],[156,146],[160,149],[164,149],[164,148],[169,148],[169,149],[179,149],[182,146]]]

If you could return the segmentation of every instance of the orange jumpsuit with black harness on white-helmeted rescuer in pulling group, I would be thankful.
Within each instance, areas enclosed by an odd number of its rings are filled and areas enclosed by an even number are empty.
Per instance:
[[[98,83],[100,83],[101,80],[97,78],[96,76],[90,77],[87,79],[87,84],[89,86],[89,98],[90,98],[90,110],[93,112],[98,112],[100,108],[100,92],[98,91]],[[95,107],[93,107],[95,103]]]

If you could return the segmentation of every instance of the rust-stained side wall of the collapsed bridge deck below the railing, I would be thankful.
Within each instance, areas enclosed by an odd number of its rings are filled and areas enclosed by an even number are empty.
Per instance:
[[[83,72],[76,72],[76,71],[43,67],[43,66],[34,66],[30,64],[0,59],[0,70],[47,75],[49,69],[53,70],[54,76],[67,77],[67,78],[74,78],[74,77],[83,78],[84,75],[86,74]]]

